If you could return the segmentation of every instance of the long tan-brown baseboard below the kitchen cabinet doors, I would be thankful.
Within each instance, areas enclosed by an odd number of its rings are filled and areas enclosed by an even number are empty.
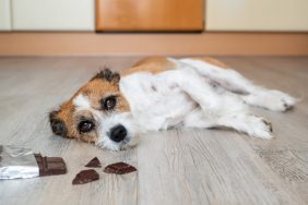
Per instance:
[[[308,33],[0,33],[0,56],[308,56]]]

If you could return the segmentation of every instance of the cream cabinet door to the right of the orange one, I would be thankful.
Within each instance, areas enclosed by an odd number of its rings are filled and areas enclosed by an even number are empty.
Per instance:
[[[208,31],[308,31],[308,0],[206,0]]]

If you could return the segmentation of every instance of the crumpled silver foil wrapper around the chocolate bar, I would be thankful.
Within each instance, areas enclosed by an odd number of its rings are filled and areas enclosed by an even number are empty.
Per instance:
[[[34,178],[39,176],[32,149],[0,145],[0,179]]]

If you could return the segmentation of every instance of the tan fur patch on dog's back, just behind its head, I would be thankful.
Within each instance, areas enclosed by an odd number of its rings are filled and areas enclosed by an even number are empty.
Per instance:
[[[142,71],[157,74],[171,69],[175,69],[175,64],[168,61],[166,58],[151,57],[137,62],[131,69],[123,70],[121,75],[129,75]]]

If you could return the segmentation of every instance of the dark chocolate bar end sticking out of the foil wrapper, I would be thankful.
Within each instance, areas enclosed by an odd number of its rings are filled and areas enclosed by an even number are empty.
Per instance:
[[[67,173],[67,166],[61,157],[43,157],[34,154],[39,168],[39,176],[57,176]]]

